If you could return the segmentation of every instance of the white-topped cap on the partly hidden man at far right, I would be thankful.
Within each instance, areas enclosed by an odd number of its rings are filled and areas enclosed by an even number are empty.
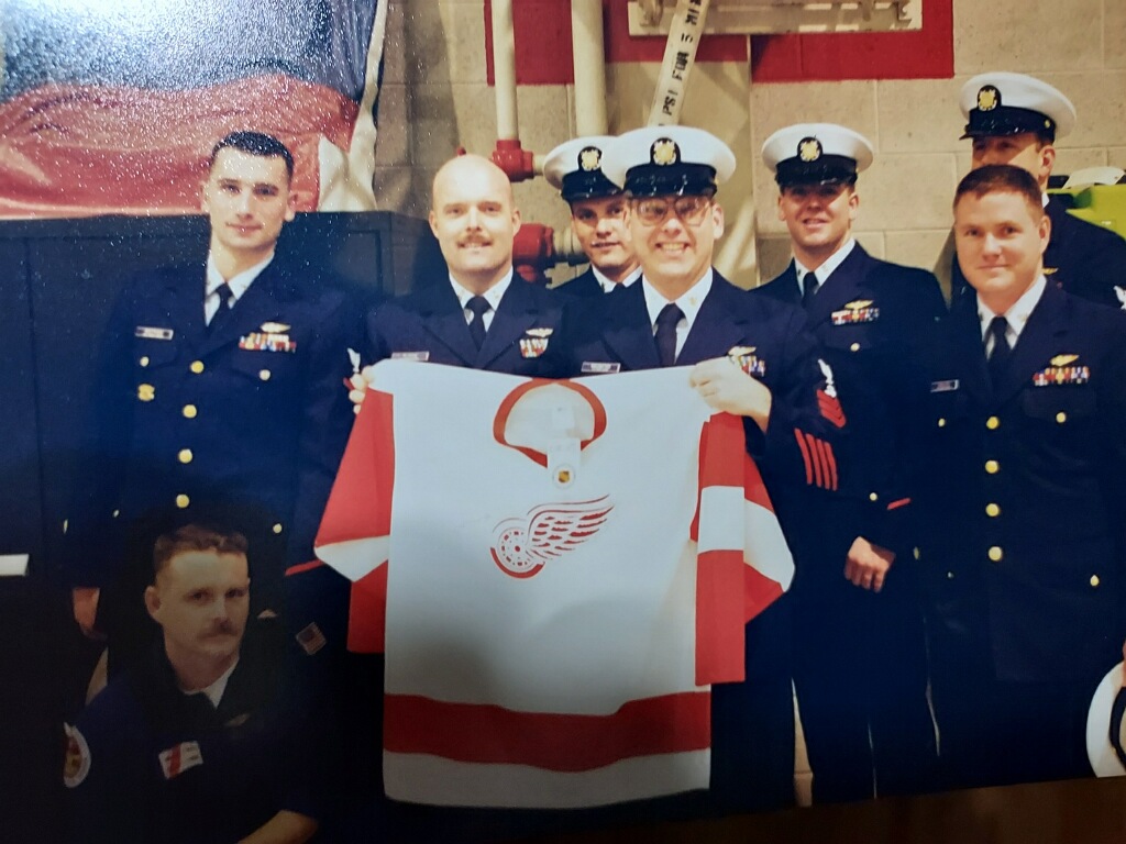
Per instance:
[[[958,97],[966,132],[962,137],[1035,132],[1048,141],[1075,128],[1075,107],[1060,91],[1024,73],[980,73]]]

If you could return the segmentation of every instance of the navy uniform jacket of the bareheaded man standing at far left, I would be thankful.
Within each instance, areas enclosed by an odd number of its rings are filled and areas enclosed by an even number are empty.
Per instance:
[[[343,294],[279,258],[215,333],[204,323],[203,262],[144,273],[122,293],[70,517],[72,584],[113,580],[134,517],[205,500],[263,508],[298,558],[312,555],[351,428],[342,379],[360,318]]]

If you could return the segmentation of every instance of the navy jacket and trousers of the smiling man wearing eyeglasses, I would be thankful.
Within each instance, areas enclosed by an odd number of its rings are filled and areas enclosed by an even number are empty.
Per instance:
[[[572,374],[584,363],[619,363],[622,370],[660,366],[642,282],[596,300],[575,327]],[[814,488],[838,483],[832,447],[840,429],[821,413],[824,387],[816,341],[801,309],[741,290],[718,272],[677,357],[687,366],[726,356],[753,356],[757,376],[772,395],[767,432],[744,420],[756,458],[783,529]],[[749,351],[748,351],[749,350]],[[597,370],[596,370],[597,371]],[[789,616],[777,601],[745,630],[743,683],[716,685],[712,694],[712,781],[705,811],[754,811],[793,803],[794,724],[790,694]],[[689,802],[692,796],[687,796]],[[661,803],[661,801],[655,801]],[[678,799],[669,806],[678,805]]]

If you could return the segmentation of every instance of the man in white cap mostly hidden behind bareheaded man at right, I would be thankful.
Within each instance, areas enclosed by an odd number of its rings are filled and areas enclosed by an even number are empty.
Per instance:
[[[1052,240],[1044,253],[1044,275],[1067,293],[1114,307],[1126,303],[1126,240],[1067,213],[1067,197],[1048,196],[1055,164],[1055,140],[1075,126],[1075,107],[1046,82],[1022,73],[982,73],[962,88],[966,118],[963,138],[973,143],[972,167],[1013,164],[1030,172],[1044,194]],[[945,254],[944,254],[945,263]],[[957,294],[966,281],[951,263]]]

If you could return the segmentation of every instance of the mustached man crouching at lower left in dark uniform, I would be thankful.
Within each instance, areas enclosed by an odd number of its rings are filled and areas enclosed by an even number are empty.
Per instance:
[[[248,544],[186,524],[153,549],[149,658],[66,727],[80,842],[304,842],[312,737],[283,701],[271,619],[248,622]]]

